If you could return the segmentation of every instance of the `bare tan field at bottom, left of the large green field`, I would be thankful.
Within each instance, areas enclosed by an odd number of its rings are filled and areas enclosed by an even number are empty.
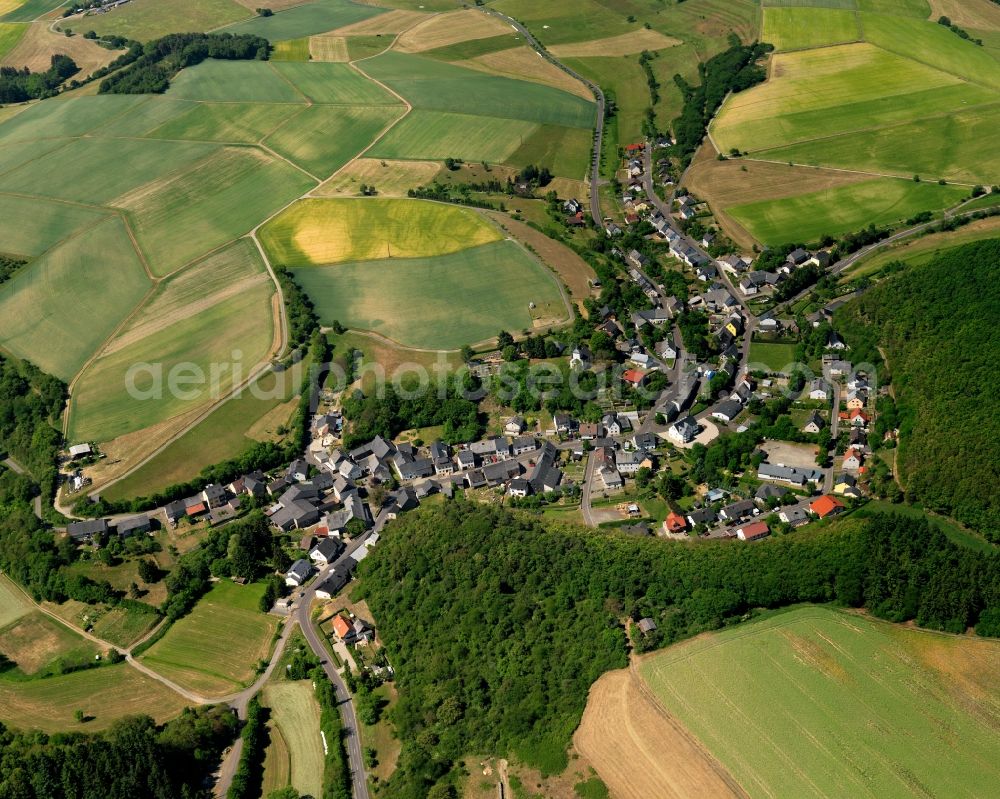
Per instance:
[[[746,794],[681,724],[647,693],[632,669],[612,671],[590,689],[573,735],[615,799],[686,799]]]

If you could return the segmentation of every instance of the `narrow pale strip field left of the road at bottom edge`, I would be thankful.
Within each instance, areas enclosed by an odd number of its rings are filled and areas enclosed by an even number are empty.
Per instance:
[[[312,682],[269,682],[264,688],[264,704],[271,708],[271,720],[278,725],[291,754],[291,785],[303,796],[320,796],[325,755]]]

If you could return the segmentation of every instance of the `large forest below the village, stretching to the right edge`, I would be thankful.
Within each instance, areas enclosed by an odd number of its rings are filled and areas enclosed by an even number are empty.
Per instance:
[[[655,619],[647,646],[797,602],[1000,633],[1000,553],[899,516],[689,545],[456,501],[397,520],[359,576],[397,672],[403,750],[390,793],[401,799],[456,779],[470,752],[562,769],[590,685],[627,663],[629,617]]]

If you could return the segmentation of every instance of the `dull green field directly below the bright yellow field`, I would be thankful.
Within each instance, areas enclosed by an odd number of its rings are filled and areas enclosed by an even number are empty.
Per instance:
[[[361,261],[295,271],[325,323],[374,330],[410,347],[457,349],[498,330],[565,321],[554,277],[511,241],[436,258]],[[529,309],[535,303],[535,309]]]

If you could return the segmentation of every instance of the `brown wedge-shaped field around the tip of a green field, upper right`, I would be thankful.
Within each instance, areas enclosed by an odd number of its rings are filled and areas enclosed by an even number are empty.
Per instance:
[[[747,249],[753,246],[755,240],[726,213],[727,208],[764,198],[777,200],[871,179],[870,175],[855,172],[743,159],[719,161],[715,156],[715,148],[706,139],[688,170],[685,186],[692,194],[708,202],[723,232]]]

